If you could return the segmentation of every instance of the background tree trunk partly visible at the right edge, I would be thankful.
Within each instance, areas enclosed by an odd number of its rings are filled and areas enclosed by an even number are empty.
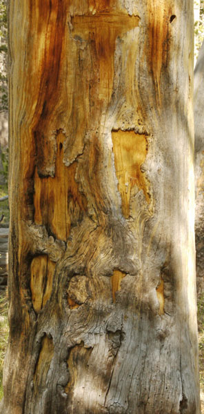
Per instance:
[[[196,280],[198,295],[204,292],[204,42],[194,70],[195,183],[196,183]]]

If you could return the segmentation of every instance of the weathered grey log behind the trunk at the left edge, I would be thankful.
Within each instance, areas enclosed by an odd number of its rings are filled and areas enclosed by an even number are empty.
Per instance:
[[[8,228],[0,228],[0,293],[8,283]]]

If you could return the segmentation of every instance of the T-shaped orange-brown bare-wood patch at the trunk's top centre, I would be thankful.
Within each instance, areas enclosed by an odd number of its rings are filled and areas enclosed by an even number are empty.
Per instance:
[[[139,17],[112,10],[108,7],[108,1],[102,1],[101,8],[99,1],[96,3],[95,14],[72,17],[72,37],[81,37],[94,43],[96,58],[99,59],[99,99],[109,101],[114,78],[116,38],[139,26]]]

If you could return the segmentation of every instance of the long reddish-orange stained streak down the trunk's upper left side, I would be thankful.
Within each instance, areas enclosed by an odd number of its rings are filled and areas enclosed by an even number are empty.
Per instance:
[[[23,219],[31,219],[28,206],[31,204],[30,178],[34,171],[34,152],[37,152],[38,166],[46,164],[47,157],[52,158],[52,145],[49,139],[47,145],[43,140],[48,130],[54,129],[52,119],[56,119],[57,107],[61,104],[59,84],[65,51],[67,2],[27,0],[24,5],[25,8],[19,8],[19,16],[21,12],[22,16],[27,14],[25,32],[14,41],[23,50],[23,58],[17,52],[18,75],[16,73],[14,81],[17,102],[14,106],[20,108],[15,122],[21,124],[21,210]],[[31,133],[37,137],[36,142],[30,139],[28,144]]]

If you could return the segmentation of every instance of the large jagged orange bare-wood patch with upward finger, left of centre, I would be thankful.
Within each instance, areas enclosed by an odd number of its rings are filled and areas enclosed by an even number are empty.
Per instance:
[[[79,193],[75,181],[77,162],[66,167],[63,163],[62,132],[57,135],[57,157],[55,176],[40,178],[37,168],[34,173],[34,221],[43,224],[61,240],[66,240],[70,232],[71,217],[68,210],[69,199],[80,210],[86,210],[85,197]]]

